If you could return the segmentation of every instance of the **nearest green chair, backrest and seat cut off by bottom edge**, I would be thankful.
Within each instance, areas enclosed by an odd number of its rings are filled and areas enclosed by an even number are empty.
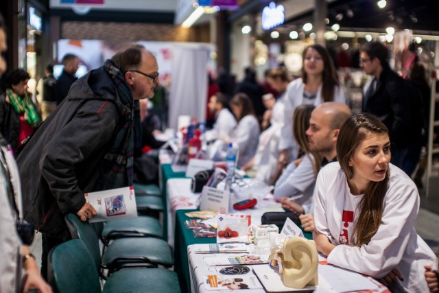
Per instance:
[[[175,272],[130,268],[112,274],[101,290],[93,258],[81,239],[56,246],[49,253],[49,283],[60,293],[180,292]]]

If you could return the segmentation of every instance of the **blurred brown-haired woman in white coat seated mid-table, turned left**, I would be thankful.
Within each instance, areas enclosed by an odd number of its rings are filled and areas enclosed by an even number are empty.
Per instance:
[[[230,140],[239,147],[238,167],[246,165],[256,154],[259,139],[259,122],[254,116],[250,98],[245,93],[237,93],[230,101],[230,108],[238,125],[230,134]]]

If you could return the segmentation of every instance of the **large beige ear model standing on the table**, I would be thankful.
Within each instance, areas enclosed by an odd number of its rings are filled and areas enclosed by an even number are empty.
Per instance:
[[[292,237],[283,243],[283,284],[292,288],[318,285],[316,243]]]

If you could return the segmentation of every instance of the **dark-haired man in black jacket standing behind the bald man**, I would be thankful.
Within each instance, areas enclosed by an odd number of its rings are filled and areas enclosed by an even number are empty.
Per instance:
[[[388,127],[392,163],[403,169],[411,144],[420,139],[420,124],[416,122],[423,117],[414,115],[409,86],[390,69],[388,57],[388,48],[380,42],[367,43],[360,49],[361,68],[371,75],[364,89],[362,110]]]

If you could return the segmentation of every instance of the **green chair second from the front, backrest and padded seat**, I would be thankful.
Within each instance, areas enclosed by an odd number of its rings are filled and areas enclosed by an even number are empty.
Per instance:
[[[65,220],[73,239],[82,239],[90,251],[95,268],[104,279],[109,274],[124,267],[174,265],[174,257],[169,244],[162,239],[146,237],[126,237],[113,240],[101,257],[99,239],[88,222],[82,222],[77,215],[69,213]],[[108,269],[108,274],[103,271]]]

